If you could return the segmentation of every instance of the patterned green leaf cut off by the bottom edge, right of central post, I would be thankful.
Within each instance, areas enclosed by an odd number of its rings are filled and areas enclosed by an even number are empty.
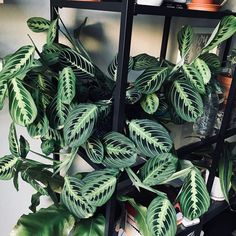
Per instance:
[[[147,224],[154,236],[175,236],[177,231],[176,212],[165,197],[156,197],[147,210]]]

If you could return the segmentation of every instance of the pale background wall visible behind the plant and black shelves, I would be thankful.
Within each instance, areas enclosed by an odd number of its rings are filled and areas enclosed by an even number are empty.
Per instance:
[[[39,48],[45,42],[45,35],[35,34],[28,30],[26,21],[32,16],[49,18],[49,1],[32,0],[5,0],[0,5],[0,58],[12,53],[25,44],[31,44],[27,34],[30,34]],[[236,10],[234,0],[229,1],[229,9]],[[118,49],[119,35],[119,14],[100,13],[79,10],[62,10],[61,16],[69,29],[73,29],[78,23],[88,16],[87,27],[84,30],[83,41],[89,48],[92,57],[105,71],[110,61],[115,56]],[[180,27],[185,24],[184,18],[173,19],[171,28],[170,42],[168,48],[168,58],[173,62],[177,58],[176,34]],[[189,20],[188,24],[195,27],[214,27],[215,21]],[[149,53],[158,56],[161,45],[161,32],[163,27],[162,17],[136,16],[134,20],[134,30],[132,36],[131,55],[138,53]],[[8,128],[10,117],[7,112],[7,102],[5,108],[0,112],[0,156],[6,155],[8,151]],[[25,135],[24,129],[17,127],[17,130]],[[39,143],[32,140],[33,150],[39,150]],[[31,156],[32,158],[36,158]],[[80,165],[81,166],[81,165]],[[34,190],[20,182],[19,193],[13,188],[11,181],[0,182],[0,234],[9,235],[10,230],[17,219],[24,213],[28,213],[30,197]],[[44,199],[42,206],[46,206],[48,200]]]

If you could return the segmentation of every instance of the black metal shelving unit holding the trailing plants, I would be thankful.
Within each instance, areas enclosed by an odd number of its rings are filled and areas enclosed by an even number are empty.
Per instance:
[[[113,113],[113,131],[122,132],[124,127],[124,111],[125,111],[125,92],[127,84],[127,75],[128,75],[128,63],[129,63],[129,54],[130,54],[130,44],[131,44],[131,35],[132,35],[132,25],[133,17],[135,15],[156,15],[163,16],[165,18],[164,27],[163,27],[163,36],[162,36],[162,46],[160,58],[166,57],[166,51],[168,47],[168,38],[170,33],[170,26],[173,17],[185,17],[185,18],[205,18],[205,19],[221,19],[226,15],[236,15],[230,11],[223,12],[206,12],[206,11],[193,11],[186,9],[170,9],[163,7],[152,7],[136,4],[135,0],[122,0],[121,2],[86,2],[86,1],[72,1],[72,0],[51,0],[51,19],[56,18],[56,11],[59,8],[76,8],[76,9],[86,9],[86,10],[95,10],[95,11],[108,11],[108,12],[120,12],[120,38],[119,38],[119,52],[118,52],[118,72],[117,72],[117,81],[116,81],[116,90],[114,93],[114,113]],[[226,59],[231,45],[231,39],[227,40],[226,47],[223,55],[223,60]],[[229,129],[227,124],[230,119],[231,106],[233,104],[234,94],[236,93],[236,72],[234,73],[234,80],[231,85],[228,103],[225,108],[223,122],[218,134],[209,137],[207,139],[202,139],[199,142],[192,143],[190,145],[181,147],[177,150],[177,153],[181,159],[184,159],[188,153],[191,153],[193,150],[207,146],[209,144],[216,144],[214,159],[210,170],[210,176],[207,183],[208,191],[211,190],[213,180],[216,173],[216,168],[218,166],[218,161],[221,153],[221,149],[224,143],[224,140],[232,135],[236,134],[236,128]],[[95,169],[100,169],[101,166],[94,165],[89,161],[83,153],[80,155],[92,165]],[[106,206],[106,236],[117,235],[115,233],[115,213],[116,213],[116,193],[127,191],[131,187],[131,182],[129,180],[123,180],[118,183],[117,190],[111,200],[107,203]],[[235,201],[235,199],[234,199]],[[209,211],[202,217],[201,223],[199,225],[189,227],[189,228],[180,228],[177,232],[177,235],[184,236],[193,231],[196,232],[195,235],[199,235],[201,226],[215,217],[217,214],[222,212],[227,208],[226,202],[223,203],[214,203],[212,204]]]

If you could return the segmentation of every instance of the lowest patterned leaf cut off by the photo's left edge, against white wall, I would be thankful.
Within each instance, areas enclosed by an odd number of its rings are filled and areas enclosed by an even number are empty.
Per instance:
[[[14,175],[14,167],[18,158],[8,155],[0,158],[0,180],[9,180]]]

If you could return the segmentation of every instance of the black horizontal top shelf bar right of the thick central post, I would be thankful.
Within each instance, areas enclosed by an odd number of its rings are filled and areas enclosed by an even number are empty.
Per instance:
[[[178,16],[189,18],[206,18],[206,19],[221,19],[223,16],[236,15],[236,13],[227,11],[210,12],[210,11],[198,11],[188,9],[176,9],[168,7],[154,7],[146,5],[136,5],[136,14],[143,15],[159,15],[159,16]]]

